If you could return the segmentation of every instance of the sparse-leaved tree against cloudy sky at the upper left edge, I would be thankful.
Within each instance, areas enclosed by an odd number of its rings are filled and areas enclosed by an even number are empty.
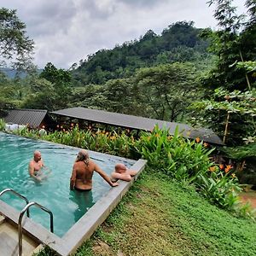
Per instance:
[[[32,67],[34,42],[26,36],[25,29],[26,25],[19,20],[16,10],[0,9],[2,65],[6,65],[6,61],[10,61],[13,67],[21,70]]]

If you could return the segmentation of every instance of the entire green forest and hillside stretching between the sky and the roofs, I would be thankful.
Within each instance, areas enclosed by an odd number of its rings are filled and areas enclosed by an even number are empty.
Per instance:
[[[247,21],[216,4],[219,29],[177,21],[160,35],[101,49],[79,65],[48,63],[26,79],[0,75],[0,109],[84,107],[212,128],[225,143],[255,140],[255,3]]]

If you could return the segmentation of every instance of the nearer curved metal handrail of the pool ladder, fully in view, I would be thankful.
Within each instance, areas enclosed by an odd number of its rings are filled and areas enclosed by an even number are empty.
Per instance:
[[[52,212],[50,212],[47,208],[39,205],[37,202],[30,202],[29,204],[26,205],[26,207],[24,207],[21,212],[20,212],[20,217],[19,217],[19,223],[18,223],[18,232],[19,232],[19,255],[22,256],[22,227],[21,227],[21,221],[22,218],[24,216],[24,213],[28,210],[29,207],[32,206],[36,206],[40,209],[42,209],[44,212],[48,212],[49,216],[50,216],[50,232],[53,233],[54,232],[54,228],[53,228],[53,214]]]

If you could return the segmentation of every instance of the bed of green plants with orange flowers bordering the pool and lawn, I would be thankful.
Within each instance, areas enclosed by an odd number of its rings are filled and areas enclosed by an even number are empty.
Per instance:
[[[212,162],[210,155],[214,148],[200,137],[194,140],[182,137],[178,127],[171,135],[168,129],[156,125],[153,131],[141,131],[138,137],[127,135],[125,131],[85,131],[78,125],[41,136],[38,131],[27,128],[15,132],[126,158],[143,158],[148,160],[153,172],[164,172],[178,181],[193,184],[201,195],[218,207],[236,209],[241,215],[254,218],[248,207],[240,207],[238,193],[241,188],[233,167]]]

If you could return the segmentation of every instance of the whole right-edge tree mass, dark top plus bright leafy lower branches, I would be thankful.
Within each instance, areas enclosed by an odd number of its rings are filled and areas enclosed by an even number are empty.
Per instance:
[[[217,32],[208,33],[218,60],[203,83],[215,90],[208,92],[206,101],[195,104],[196,114],[204,117],[203,121],[223,137],[224,143],[236,146],[244,138],[255,136],[256,131],[256,2],[246,1],[251,16],[247,22],[236,15],[231,0],[209,3],[216,4],[214,16],[220,26]]]

